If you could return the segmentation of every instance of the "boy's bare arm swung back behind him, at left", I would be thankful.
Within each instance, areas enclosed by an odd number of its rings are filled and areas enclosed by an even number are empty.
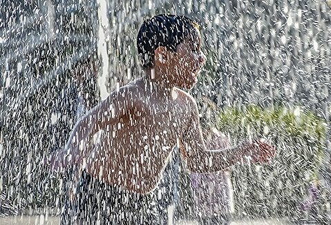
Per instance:
[[[66,146],[48,157],[46,164],[59,170],[70,164],[79,163],[88,153],[86,146],[99,130],[114,126],[134,104],[136,91],[132,86],[124,86],[111,94],[84,115],[73,128]]]

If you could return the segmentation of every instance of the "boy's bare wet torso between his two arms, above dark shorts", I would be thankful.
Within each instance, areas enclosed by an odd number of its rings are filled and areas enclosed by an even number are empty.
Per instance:
[[[189,100],[188,94],[178,88],[170,98],[140,95],[118,124],[103,130],[90,157],[93,164],[89,173],[98,171],[95,177],[138,193],[153,190],[164,162],[189,124]]]

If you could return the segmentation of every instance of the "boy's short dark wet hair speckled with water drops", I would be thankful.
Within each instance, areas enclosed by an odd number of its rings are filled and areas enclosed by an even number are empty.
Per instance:
[[[196,21],[186,16],[158,14],[146,19],[137,36],[138,55],[143,69],[154,66],[155,49],[164,46],[176,51],[178,44],[187,38],[195,28],[200,28]]]

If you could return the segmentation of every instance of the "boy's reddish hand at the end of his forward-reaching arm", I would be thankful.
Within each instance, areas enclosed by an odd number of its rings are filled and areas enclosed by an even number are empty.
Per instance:
[[[270,160],[276,155],[276,148],[264,141],[254,141],[252,144],[252,150],[250,156],[252,162],[270,162]]]

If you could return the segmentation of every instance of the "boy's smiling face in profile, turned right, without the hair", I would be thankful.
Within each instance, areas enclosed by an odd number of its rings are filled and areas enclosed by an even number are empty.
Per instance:
[[[201,37],[198,29],[176,47],[176,52],[169,60],[172,68],[173,83],[180,88],[191,89],[198,82],[198,73],[205,64],[205,55],[201,51]]]

